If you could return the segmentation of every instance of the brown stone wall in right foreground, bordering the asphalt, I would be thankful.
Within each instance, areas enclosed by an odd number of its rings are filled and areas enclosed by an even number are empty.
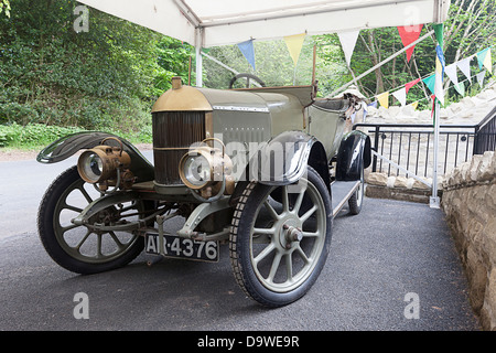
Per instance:
[[[442,208],[484,330],[496,331],[496,153],[474,156],[446,174]]]

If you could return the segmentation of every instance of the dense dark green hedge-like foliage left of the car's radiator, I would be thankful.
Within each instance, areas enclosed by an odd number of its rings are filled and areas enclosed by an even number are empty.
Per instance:
[[[160,35],[90,11],[76,33],[76,1],[12,2],[0,18],[0,124],[84,128],[148,124]]]

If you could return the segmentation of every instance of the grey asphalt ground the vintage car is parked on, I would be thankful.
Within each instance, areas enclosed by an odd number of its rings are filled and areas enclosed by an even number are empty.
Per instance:
[[[226,245],[217,264],[147,266],[141,255],[118,270],[72,274],[44,252],[35,220],[45,189],[73,163],[0,162],[0,330],[479,330],[443,214],[423,204],[366,199],[359,215],[344,210],[317,282],[279,309],[246,298]],[[80,292],[88,319],[74,317]]]

